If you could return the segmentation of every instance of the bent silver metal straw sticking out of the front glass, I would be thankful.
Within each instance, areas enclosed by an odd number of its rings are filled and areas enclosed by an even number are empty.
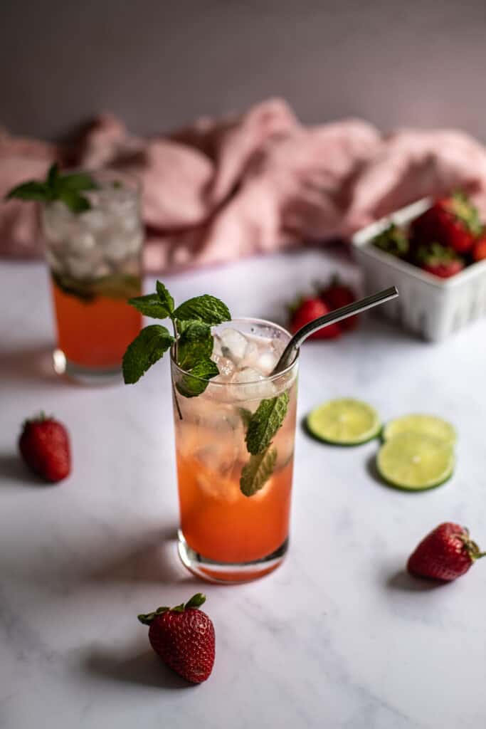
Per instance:
[[[347,304],[342,306],[340,309],[329,312],[329,314],[319,316],[318,319],[309,321],[308,324],[301,327],[291,338],[289,344],[283,350],[283,354],[278,360],[272,375],[276,375],[282,370],[285,370],[286,367],[289,367],[289,364],[294,362],[302,342],[313,334],[313,332],[317,332],[317,330],[323,329],[323,327],[329,327],[329,324],[342,321],[342,319],[348,319],[348,316],[353,316],[353,314],[361,313],[361,311],[367,311],[367,309],[371,309],[373,306],[384,304],[385,301],[395,299],[398,295],[399,291],[396,286],[391,286],[389,289],[384,289],[384,291],[379,291],[371,296],[365,296],[364,299],[353,301],[352,304]]]

